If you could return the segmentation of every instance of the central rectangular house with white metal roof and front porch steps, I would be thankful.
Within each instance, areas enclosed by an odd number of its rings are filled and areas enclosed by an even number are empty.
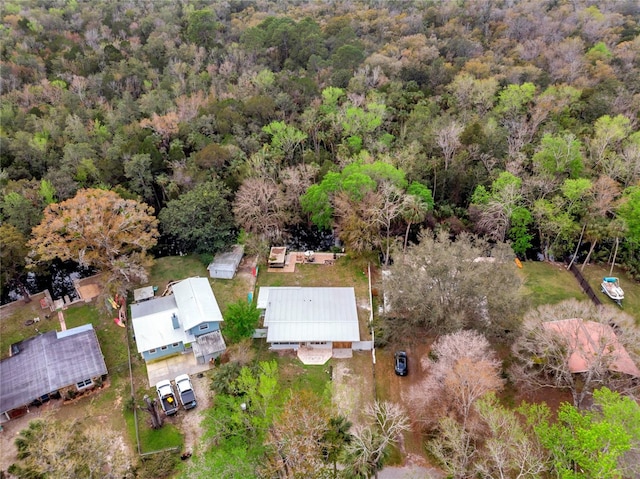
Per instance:
[[[360,341],[354,288],[262,287],[257,307],[271,349],[294,349],[299,356],[315,350],[326,359],[370,349]]]

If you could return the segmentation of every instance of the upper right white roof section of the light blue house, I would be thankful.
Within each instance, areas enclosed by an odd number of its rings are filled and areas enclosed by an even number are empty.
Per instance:
[[[173,285],[184,329],[207,321],[222,322],[222,313],[207,278],[188,278]]]

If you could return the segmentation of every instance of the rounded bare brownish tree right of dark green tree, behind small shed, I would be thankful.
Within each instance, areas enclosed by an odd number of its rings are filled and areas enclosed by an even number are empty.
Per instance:
[[[275,241],[289,219],[286,198],[272,180],[246,179],[233,204],[236,222],[246,231]]]

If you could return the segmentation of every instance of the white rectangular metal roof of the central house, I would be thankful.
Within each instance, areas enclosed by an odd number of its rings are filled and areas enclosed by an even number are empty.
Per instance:
[[[269,343],[360,341],[353,288],[269,288],[264,325]]]

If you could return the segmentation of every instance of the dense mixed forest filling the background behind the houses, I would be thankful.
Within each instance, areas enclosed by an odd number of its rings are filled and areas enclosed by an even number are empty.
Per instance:
[[[619,240],[638,276],[639,18],[631,0],[8,1],[0,221],[26,242],[47,205],[111,189],[208,253],[315,224],[388,262],[440,224],[520,257]],[[411,184],[432,207],[410,214]]]

